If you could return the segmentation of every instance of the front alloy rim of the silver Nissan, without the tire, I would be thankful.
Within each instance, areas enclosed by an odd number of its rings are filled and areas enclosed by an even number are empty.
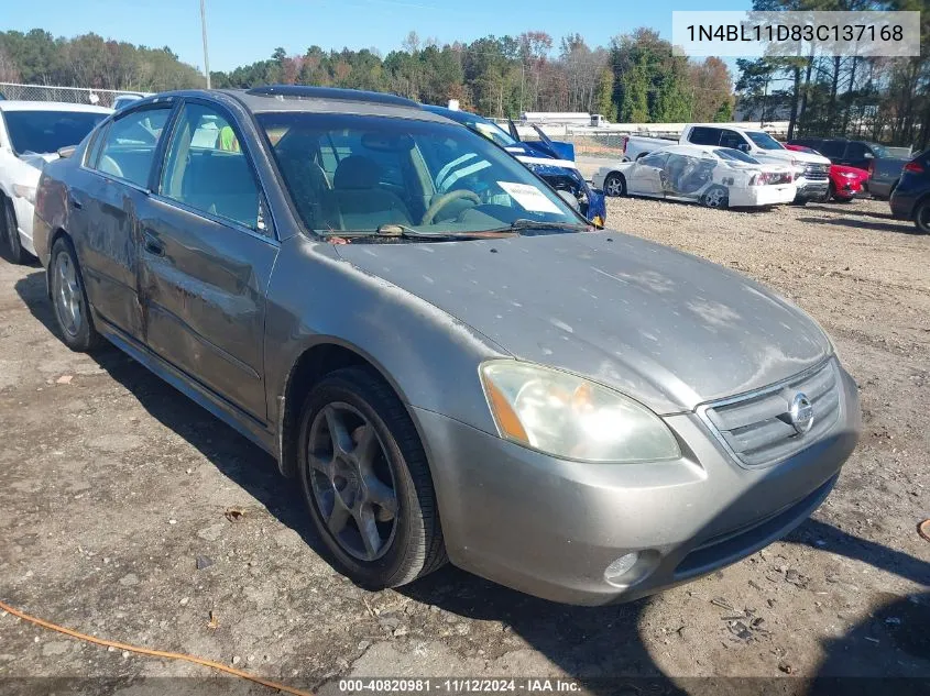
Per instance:
[[[396,532],[400,506],[374,426],[354,407],[331,402],[314,418],[307,448],[314,501],[333,539],[355,559],[383,556]]]

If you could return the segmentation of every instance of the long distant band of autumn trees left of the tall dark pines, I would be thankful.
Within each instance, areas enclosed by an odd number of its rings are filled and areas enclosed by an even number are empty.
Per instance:
[[[0,81],[162,91],[203,87],[204,77],[167,46],[150,48],[96,34],[54,37],[40,29],[0,32]],[[491,117],[526,111],[588,111],[611,121],[729,120],[732,77],[718,58],[689,62],[648,29],[589,46],[579,34],[484,36],[440,45],[411,32],[386,56],[373,48],[288,55],[210,74],[214,87],[271,82],[391,91],[424,103]]]

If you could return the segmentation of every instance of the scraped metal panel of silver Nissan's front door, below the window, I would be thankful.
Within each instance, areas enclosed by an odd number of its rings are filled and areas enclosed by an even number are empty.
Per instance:
[[[153,200],[143,225],[145,342],[252,416],[266,416],[265,291],[277,246]]]

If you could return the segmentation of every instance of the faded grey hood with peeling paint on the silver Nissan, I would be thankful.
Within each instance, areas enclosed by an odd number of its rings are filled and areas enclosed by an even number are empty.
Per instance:
[[[812,319],[741,274],[617,232],[336,248],[513,356],[659,413],[769,385],[831,351]]]

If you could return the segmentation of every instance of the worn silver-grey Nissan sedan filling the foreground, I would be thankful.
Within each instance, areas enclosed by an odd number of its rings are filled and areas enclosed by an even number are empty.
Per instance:
[[[67,345],[274,454],[368,587],[655,593],[801,523],[858,435],[797,307],[390,95],[141,99],[45,168],[34,241]]]

